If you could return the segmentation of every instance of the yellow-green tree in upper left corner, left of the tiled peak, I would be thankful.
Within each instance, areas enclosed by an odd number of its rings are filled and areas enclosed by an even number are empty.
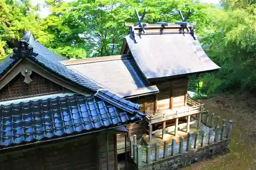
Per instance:
[[[17,41],[27,30],[34,31],[38,26],[37,7],[29,1],[0,1],[0,59],[12,52]]]

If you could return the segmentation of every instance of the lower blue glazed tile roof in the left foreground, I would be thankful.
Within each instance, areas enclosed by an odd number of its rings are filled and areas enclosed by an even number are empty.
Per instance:
[[[2,102],[0,147],[136,122],[145,116],[139,109],[138,104],[106,90],[88,96],[60,94],[45,99]]]

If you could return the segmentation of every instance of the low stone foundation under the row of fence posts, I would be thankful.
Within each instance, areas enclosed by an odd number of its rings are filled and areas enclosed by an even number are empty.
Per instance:
[[[186,167],[191,163],[199,162],[204,159],[211,159],[218,155],[223,155],[229,152],[228,142],[230,139],[225,139],[219,142],[215,142],[211,145],[199,148],[197,150],[191,150],[184,154],[176,154],[175,156],[168,157],[166,159],[160,158],[159,161],[152,161],[152,163],[143,163],[137,167],[135,162],[132,163],[132,169],[136,170],[175,170],[181,167]]]

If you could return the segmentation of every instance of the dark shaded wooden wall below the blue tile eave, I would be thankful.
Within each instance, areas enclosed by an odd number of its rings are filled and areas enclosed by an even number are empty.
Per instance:
[[[103,170],[106,169],[105,133],[84,135],[79,140],[0,154],[0,169],[8,170]],[[114,134],[109,135],[109,169],[115,170]],[[97,151],[98,150],[98,151]]]

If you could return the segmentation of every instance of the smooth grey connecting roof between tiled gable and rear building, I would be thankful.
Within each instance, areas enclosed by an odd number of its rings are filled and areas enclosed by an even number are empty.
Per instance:
[[[132,55],[69,60],[62,63],[126,98],[159,91],[155,85],[145,81]]]

